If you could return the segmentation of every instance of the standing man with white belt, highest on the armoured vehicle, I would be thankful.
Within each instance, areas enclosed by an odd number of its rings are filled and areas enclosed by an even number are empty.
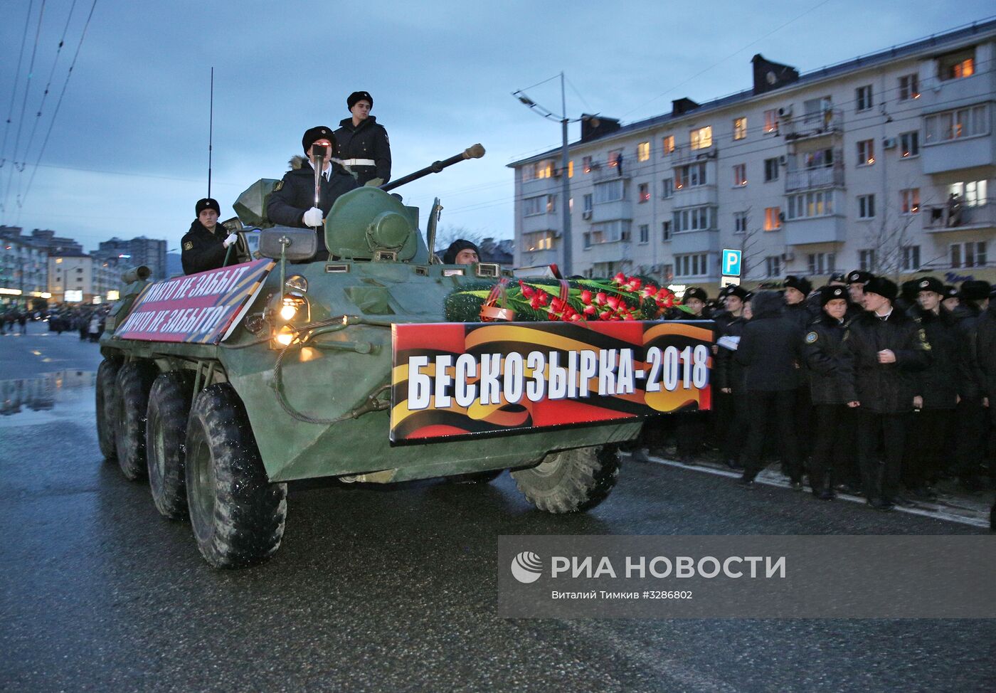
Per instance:
[[[390,180],[390,140],[387,130],[370,115],[373,97],[369,92],[354,92],[346,104],[353,115],[343,118],[336,130],[336,156],[361,185],[373,178],[383,185]]]

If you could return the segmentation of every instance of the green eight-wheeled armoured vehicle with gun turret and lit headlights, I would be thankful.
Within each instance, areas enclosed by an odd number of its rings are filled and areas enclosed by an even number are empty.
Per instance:
[[[156,293],[168,305],[165,290],[183,278],[149,282],[141,267],[124,274],[101,339],[101,451],[127,479],[148,479],[163,516],[189,516],[211,566],[273,556],[293,480],[490,481],[510,469],[526,498],[551,513],[592,508],[616,484],[618,445],[638,434],[638,419],[403,445],[388,439],[392,326],[444,323],[448,294],[510,272],[439,264],[419,232],[418,209],[387,189],[479,156],[477,147],[341,196],[325,222],[330,260],[311,261],[312,229],[242,228],[237,260],[271,260],[214,340],[129,337],[136,306]],[[260,181],[236,203],[244,226],[267,225],[266,192],[275,182]],[[429,244],[440,209],[436,200]],[[189,338],[197,328],[187,323],[177,324]]]

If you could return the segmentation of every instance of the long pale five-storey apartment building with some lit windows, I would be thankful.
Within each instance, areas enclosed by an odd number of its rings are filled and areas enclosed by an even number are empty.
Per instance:
[[[800,74],[752,59],[750,89],[570,145],[574,274],[712,289],[867,269],[996,280],[996,21]],[[515,263],[564,264],[560,149],[515,169]]]

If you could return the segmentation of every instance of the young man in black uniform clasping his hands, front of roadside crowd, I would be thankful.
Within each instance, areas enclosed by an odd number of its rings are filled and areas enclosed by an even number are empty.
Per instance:
[[[869,504],[891,510],[915,394],[915,371],[930,363],[918,322],[894,310],[895,283],[875,277],[864,286],[865,313],[848,325],[842,365],[848,406],[858,411],[858,459]],[[879,435],[882,463],[877,460]]]

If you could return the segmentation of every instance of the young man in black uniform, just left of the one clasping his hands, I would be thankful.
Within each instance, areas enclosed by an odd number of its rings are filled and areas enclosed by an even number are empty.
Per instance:
[[[848,290],[827,286],[820,291],[823,315],[809,326],[803,351],[816,412],[816,445],[810,463],[810,486],[813,495],[825,501],[835,497],[835,477],[842,475],[851,483],[857,476],[852,469],[854,417],[848,407],[841,358],[847,323]],[[835,463],[836,462],[836,463]]]

